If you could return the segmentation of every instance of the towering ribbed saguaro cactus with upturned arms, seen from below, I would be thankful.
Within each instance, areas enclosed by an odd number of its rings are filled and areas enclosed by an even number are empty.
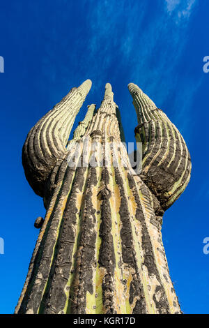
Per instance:
[[[68,142],[87,80],[31,129],[22,161],[47,210],[15,313],[181,313],[162,244],[164,211],[191,163],[183,137],[135,84],[136,174],[111,85]]]

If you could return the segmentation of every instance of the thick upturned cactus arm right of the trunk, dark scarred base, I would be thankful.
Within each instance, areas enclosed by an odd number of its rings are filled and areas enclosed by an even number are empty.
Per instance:
[[[136,84],[128,89],[137,112],[137,142],[143,144],[141,179],[168,209],[185,190],[191,159],[182,135],[162,110]]]

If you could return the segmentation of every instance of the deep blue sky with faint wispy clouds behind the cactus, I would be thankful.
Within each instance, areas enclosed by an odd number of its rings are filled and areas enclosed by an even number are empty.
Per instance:
[[[127,84],[150,96],[182,133],[192,157],[186,191],[164,215],[162,235],[184,313],[209,313],[207,0],[0,1],[1,225],[0,313],[13,313],[38,230],[42,199],[29,187],[22,145],[30,128],[87,78],[86,105],[110,82],[127,142],[137,116]]]

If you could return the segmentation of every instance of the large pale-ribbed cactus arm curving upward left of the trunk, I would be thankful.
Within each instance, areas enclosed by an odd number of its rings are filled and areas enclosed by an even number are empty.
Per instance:
[[[86,80],[78,88],[72,88],[60,103],[45,114],[31,128],[22,149],[22,164],[26,179],[33,191],[42,197],[45,181],[56,164],[65,155],[65,146],[75,117],[91,89]]]

